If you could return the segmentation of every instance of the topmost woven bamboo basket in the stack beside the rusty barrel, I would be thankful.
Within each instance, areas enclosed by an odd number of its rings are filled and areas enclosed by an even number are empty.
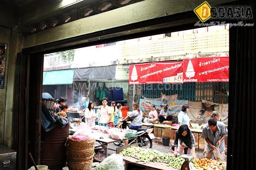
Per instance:
[[[95,139],[90,139],[87,141],[74,141],[68,137],[67,138],[67,149],[70,149],[70,150],[94,149],[94,142],[95,142]]]

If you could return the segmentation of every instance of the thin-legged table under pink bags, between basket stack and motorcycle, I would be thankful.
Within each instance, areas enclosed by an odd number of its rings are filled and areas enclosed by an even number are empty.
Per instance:
[[[103,138],[103,139],[99,139],[99,137],[96,137],[96,142],[98,142],[100,145],[99,146],[96,146],[94,148],[97,148],[97,147],[103,147],[105,149],[105,154],[106,154],[106,157],[108,156],[108,150],[113,150],[113,149],[110,149],[108,148],[108,144],[111,144],[111,143],[114,143],[114,142],[121,142],[121,141],[125,141],[127,139],[137,139],[137,137],[132,137],[132,138],[124,138],[122,140],[116,140],[116,139],[111,139],[111,138]],[[132,142],[130,142],[128,145],[132,144],[134,142],[134,140]],[[123,144],[120,143],[122,146]],[[114,150],[116,151],[116,150]]]

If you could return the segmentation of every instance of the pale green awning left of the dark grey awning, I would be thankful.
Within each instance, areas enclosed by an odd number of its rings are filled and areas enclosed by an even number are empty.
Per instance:
[[[43,85],[70,85],[73,76],[74,69],[44,71]]]

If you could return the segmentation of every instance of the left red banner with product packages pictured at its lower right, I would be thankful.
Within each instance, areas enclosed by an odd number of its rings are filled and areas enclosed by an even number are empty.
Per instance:
[[[130,65],[129,85],[182,83],[183,62],[150,62]]]

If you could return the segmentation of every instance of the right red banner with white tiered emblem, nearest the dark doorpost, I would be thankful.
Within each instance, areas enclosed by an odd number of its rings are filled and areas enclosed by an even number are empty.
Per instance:
[[[229,57],[183,60],[183,82],[228,82]]]

